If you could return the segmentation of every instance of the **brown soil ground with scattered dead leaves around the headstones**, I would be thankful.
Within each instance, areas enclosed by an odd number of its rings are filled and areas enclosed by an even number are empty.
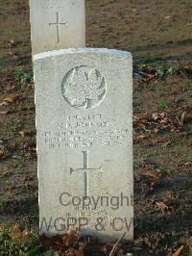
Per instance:
[[[87,46],[133,55],[135,240],[128,252],[172,255],[183,244],[182,255],[192,255],[192,2],[85,2]],[[143,77],[146,68],[170,67],[177,71]],[[37,229],[34,85],[20,80],[31,70],[28,1],[0,0],[0,222]],[[10,95],[19,97],[6,105]]]

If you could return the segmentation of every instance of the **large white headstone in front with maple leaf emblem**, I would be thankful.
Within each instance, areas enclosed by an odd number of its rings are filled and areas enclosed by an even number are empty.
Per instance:
[[[40,232],[132,240],[132,55],[68,49],[34,61]]]

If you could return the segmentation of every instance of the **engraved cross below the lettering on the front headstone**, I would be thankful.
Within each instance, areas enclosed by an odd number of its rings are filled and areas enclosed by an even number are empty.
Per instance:
[[[89,168],[89,161],[88,161],[88,151],[83,151],[83,154],[84,154],[84,167],[83,168],[78,168],[78,169],[73,169],[73,168],[70,168],[70,174],[72,174],[73,172],[76,172],[76,171],[84,171],[84,196],[88,196],[88,173],[89,171],[93,170],[98,170],[98,171],[101,171],[102,172],[102,166],[100,167],[97,167],[97,168]]]

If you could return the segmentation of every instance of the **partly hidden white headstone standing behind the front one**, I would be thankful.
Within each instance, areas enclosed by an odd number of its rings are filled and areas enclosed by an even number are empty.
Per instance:
[[[85,47],[84,0],[30,0],[33,55]]]

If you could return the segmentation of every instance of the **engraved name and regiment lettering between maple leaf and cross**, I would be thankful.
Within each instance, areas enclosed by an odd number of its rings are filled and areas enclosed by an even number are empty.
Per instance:
[[[87,147],[93,145],[121,146],[130,135],[128,124],[118,127],[102,115],[67,115],[65,121],[56,124],[55,131],[43,133],[45,144],[51,148]]]

